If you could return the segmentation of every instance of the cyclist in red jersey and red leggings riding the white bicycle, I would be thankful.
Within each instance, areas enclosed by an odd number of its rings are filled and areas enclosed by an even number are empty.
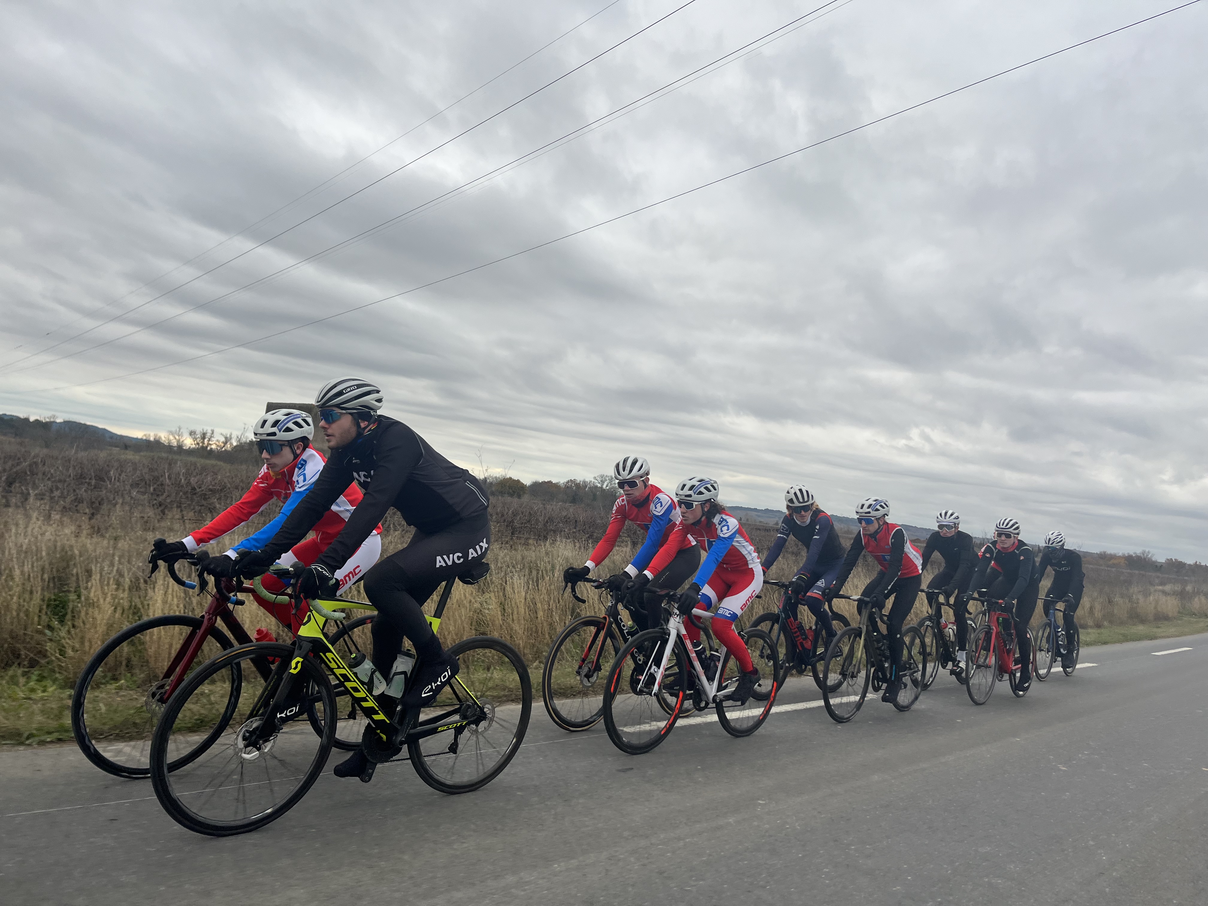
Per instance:
[[[738,519],[726,512],[718,500],[719,494],[718,482],[713,478],[692,477],[679,483],[675,499],[684,512],[684,519],[646,571],[655,573],[666,565],[674,554],[678,538],[691,538],[707,551],[692,583],[680,592],[679,611],[687,615],[692,612],[692,608],[702,604],[705,610],[718,608],[713,616],[713,635],[726,646],[742,669],[730,698],[745,702],[755,691],[760,675],[747,645],[734,632],[734,621],[763,587],[763,570],[755,545]],[[696,644],[701,631],[691,620],[685,621],[684,628]]]

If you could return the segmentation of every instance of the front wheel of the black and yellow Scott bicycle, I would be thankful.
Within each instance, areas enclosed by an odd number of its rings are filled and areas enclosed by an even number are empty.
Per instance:
[[[151,742],[151,785],[155,789],[156,798],[159,800],[159,805],[163,806],[163,809],[168,813],[168,815],[182,827],[187,827],[196,834],[203,834],[210,837],[230,837],[237,834],[246,834],[249,831],[257,830],[259,827],[263,827],[265,825],[275,821],[296,806],[319,778],[319,774],[323,772],[324,765],[327,761],[327,756],[331,754],[336,736],[336,697],[332,691],[331,683],[329,683],[327,675],[319,662],[312,657],[295,658],[295,651],[296,649],[292,644],[286,645],[279,641],[251,643],[249,645],[239,645],[230,651],[223,651],[221,655],[208,661],[205,664],[194,670],[192,675],[190,675],[190,678],[181,684],[176,693],[168,701],[163,715],[156,726],[155,737]],[[222,769],[222,756],[220,753],[226,747],[220,747],[215,751],[214,765],[199,765],[196,777],[190,776],[186,778],[179,768],[174,772],[169,772],[167,756],[173,741],[173,731],[175,730],[176,720],[180,719],[181,713],[190,705],[192,697],[198,695],[201,703],[197,707],[201,713],[204,713],[207,710],[207,705],[204,704],[205,681],[211,675],[221,670],[242,669],[242,666],[245,662],[254,662],[259,658],[274,658],[274,668],[266,681],[265,687],[260,690],[248,703],[249,710],[244,715],[246,718],[245,722],[243,722],[231,734],[234,754],[227,755],[227,763],[233,765],[233,767],[230,768],[228,776],[219,778],[219,773]],[[252,709],[257,707],[262,708],[266,703],[271,703],[272,693],[277,687],[277,683],[289,675],[286,669],[291,664],[296,664],[297,668],[297,675],[294,681],[306,684],[307,690],[313,690],[313,692],[319,696],[319,703],[323,705],[324,715],[326,715],[324,733],[318,738],[315,753],[309,757],[309,765],[304,768],[301,776],[290,774],[290,772],[296,769],[295,765],[286,760],[288,755],[284,751],[285,747],[279,744],[279,737],[286,732],[286,728],[290,727],[291,724],[298,724],[301,726],[300,721],[295,720],[283,724],[278,733],[274,733],[267,744],[262,747],[240,747],[238,744],[240,739],[245,738],[243,736],[244,732],[250,732],[256,720],[256,714]],[[249,691],[246,683],[243,684],[243,687],[245,692]],[[250,698],[250,696],[246,695],[244,697]],[[240,704],[243,704],[243,702],[240,702]],[[301,704],[301,702],[298,704]],[[188,721],[191,719],[192,718],[190,716],[185,718],[181,732],[187,732]],[[304,731],[290,734],[291,741],[301,741],[303,753],[308,748],[306,742],[307,738],[314,738],[309,721],[306,722]],[[314,743],[312,742],[309,744]],[[273,753],[272,759],[261,757],[262,755],[267,755],[269,750]],[[286,759],[283,759],[283,755],[286,755]],[[304,760],[306,755],[303,754],[302,759],[296,763],[301,765]],[[256,771],[255,776],[259,777],[260,773],[262,773],[261,769],[267,771],[271,763],[274,767],[279,766],[285,771],[286,777],[283,780],[275,784],[271,780],[251,780],[250,783],[242,783],[245,768],[249,772]],[[250,765],[256,765],[256,767],[249,767]],[[239,782],[231,783],[230,774],[236,772],[239,774]],[[198,808],[204,806],[207,801],[201,794],[236,790],[233,794],[236,802],[243,802],[244,807],[246,807],[251,801],[251,796],[257,792],[261,795],[275,795],[279,786],[284,785],[284,783],[289,780],[300,780],[300,783],[297,783],[280,802],[273,802],[255,814],[228,820],[216,820],[215,818],[198,812]],[[198,784],[207,785],[203,785],[201,789],[192,789],[192,786]],[[219,807],[216,811],[225,812],[226,809],[225,807]]]

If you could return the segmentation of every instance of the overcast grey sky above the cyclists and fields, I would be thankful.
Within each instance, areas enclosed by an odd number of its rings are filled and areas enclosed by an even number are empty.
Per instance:
[[[1208,4],[255,342],[1178,0],[840,0],[236,292],[825,0],[696,0],[225,263],[683,2],[620,0],[242,236],[608,0],[6,5],[0,411],[239,430],[267,399],[358,374],[452,459],[527,481],[635,453],[664,487],[704,474],[733,504],[778,507],[803,482],[842,515],[877,495],[914,524],[953,507],[975,532],[1011,515],[1032,541],[1208,559]]]

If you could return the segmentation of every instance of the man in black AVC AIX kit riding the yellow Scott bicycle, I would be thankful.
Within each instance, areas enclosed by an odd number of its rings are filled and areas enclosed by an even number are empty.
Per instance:
[[[335,571],[393,506],[414,528],[401,551],[365,574],[365,592],[377,608],[373,620],[373,666],[389,678],[411,639],[419,667],[403,704],[431,701],[458,672],[424,617],[423,604],[442,582],[486,557],[490,546],[487,490],[474,475],[432,449],[402,422],[379,416],[382,391],[360,378],[338,378],[315,397],[319,422],[331,447],[319,480],[260,551],[237,561],[243,575],[268,569],[318,522],[355,481],[365,492],[336,540],[314,564],[298,569],[298,590],[310,597],[333,597]],[[383,709],[397,704],[383,696]],[[393,714],[387,714],[393,716]],[[362,751],[336,766],[339,777],[356,777],[366,766]]]

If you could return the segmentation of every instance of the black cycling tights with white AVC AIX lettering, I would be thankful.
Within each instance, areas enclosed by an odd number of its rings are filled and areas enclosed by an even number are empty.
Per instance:
[[[373,617],[373,666],[389,676],[411,639],[420,660],[441,656],[441,643],[428,626],[423,604],[442,582],[465,573],[487,556],[490,518],[487,513],[449,525],[443,532],[417,532],[401,551],[395,551],[365,574],[365,593],[377,608]]]

